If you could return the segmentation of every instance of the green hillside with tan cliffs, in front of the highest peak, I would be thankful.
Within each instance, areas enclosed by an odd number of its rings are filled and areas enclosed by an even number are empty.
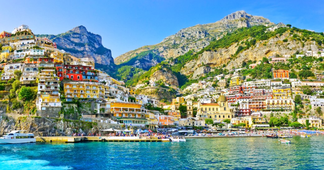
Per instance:
[[[188,53],[162,62],[177,75],[179,86],[188,81],[205,76],[217,75],[224,70],[239,68],[250,62],[256,62],[272,55],[299,54],[307,50],[317,51],[323,48],[323,33],[301,30],[295,27],[281,27],[267,31],[265,26],[240,28],[221,39],[212,41],[197,53]],[[293,61],[292,61],[293,62]],[[156,67],[160,67],[157,65]],[[150,70],[155,70],[152,67]],[[147,75],[147,73],[142,73]],[[130,84],[138,83],[138,76],[130,80]],[[136,81],[134,81],[136,80]]]

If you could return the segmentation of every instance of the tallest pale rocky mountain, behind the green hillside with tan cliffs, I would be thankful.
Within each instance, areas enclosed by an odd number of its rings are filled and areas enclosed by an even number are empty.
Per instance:
[[[175,58],[184,55],[190,50],[198,52],[215,39],[220,39],[227,32],[232,32],[241,27],[252,27],[255,25],[274,25],[269,19],[252,16],[245,11],[234,12],[223,19],[203,25],[179,30],[176,34],[168,36],[161,43],[140,47],[129,51],[114,59],[115,64],[129,65],[138,68],[154,66],[158,60]],[[145,54],[143,56],[143,54]],[[148,55],[157,55],[157,59],[146,57]]]

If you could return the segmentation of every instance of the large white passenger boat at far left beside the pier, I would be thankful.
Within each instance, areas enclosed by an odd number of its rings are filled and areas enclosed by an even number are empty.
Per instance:
[[[0,144],[16,144],[16,143],[33,143],[36,142],[34,134],[21,133],[27,130],[13,130],[0,138]]]

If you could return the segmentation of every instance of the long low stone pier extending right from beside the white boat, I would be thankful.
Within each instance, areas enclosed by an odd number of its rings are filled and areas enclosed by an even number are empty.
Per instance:
[[[35,137],[36,142],[77,143],[84,141],[94,142],[169,142],[169,139],[139,139],[137,137],[98,137],[98,136],[50,136]]]

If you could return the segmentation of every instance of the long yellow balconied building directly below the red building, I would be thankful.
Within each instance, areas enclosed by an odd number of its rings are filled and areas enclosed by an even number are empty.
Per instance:
[[[72,101],[74,98],[104,100],[105,93],[109,93],[109,91],[105,91],[105,86],[102,83],[88,81],[64,82],[66,101]]]

